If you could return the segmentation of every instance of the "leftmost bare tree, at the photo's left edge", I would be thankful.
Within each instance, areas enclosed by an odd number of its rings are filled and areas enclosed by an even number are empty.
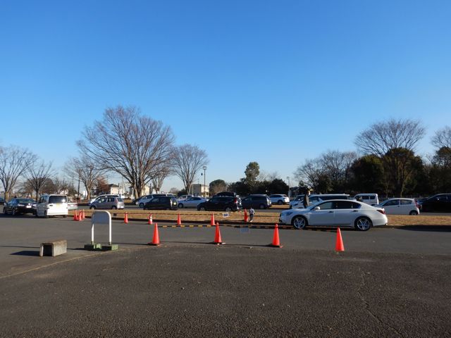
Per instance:
[[[18,178],[25,174],[36,160],[36,155],[18,146],[9,146],[0,151],[0,181],[5,190],[5,199],[16,186]]]

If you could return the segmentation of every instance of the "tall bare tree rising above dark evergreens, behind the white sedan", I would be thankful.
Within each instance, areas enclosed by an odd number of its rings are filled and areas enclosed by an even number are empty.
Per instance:
[[[396,196],[402,196],[405,184],[412,175],[409,167],[415,146],[424,137],[425,131],[416,120],[389,120],[371,125],[357,136],[354,143],[364,154],[381,158],[385,173],[393,184],[393,192]]]

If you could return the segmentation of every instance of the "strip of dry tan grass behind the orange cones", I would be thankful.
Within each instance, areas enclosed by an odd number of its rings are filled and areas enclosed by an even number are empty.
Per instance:
[[[259,213],[256,211],[254,215],[254,223],[265,223],[268,225],[274,225],[278,223],[279,214],[281,211],[265,212]],[[125,211],[110,211],[114,217],[124,218]],[[180,218],[182,223],[189,222],[206,222],[209,223],[211,220],[211,214],[214,214],[216,222],[231,222],[231,223],[242,223],[245,218],[244,211],[238,211],[236,213],[225,213],[221,211],[188,211],[186,209],[179,211],[143,211],[139,210],[127,210],[128,218],[147,220],[149,214],[152,213],[152,219],[154,221],[169,221],[176,222],[178,214],[180,213]],[[73,215],[73,213],[70,213]],[[89,217],[92,215],[91,210],[85,210],[85,215]],[[450,216],[434,216],[434,215],[388,215],[388,225],[393,226],[403,226],[403,225],[451,225],[451,215]]]

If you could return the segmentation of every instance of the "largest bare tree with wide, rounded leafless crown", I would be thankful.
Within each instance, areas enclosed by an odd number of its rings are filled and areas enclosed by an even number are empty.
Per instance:
[[[123,176],[135,199],[158,170],[171,163],[171,127],[141,115],[134,106],[106,109],[104,119],[88,127],[83,136],[78,142],[80,151],[104,170]]]

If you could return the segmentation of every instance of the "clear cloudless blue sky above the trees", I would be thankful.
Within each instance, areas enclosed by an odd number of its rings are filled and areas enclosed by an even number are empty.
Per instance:
[[[425,155],[451,125],[450,18],[447,0],[3,0],[0,145],[59,168],[122,104],[205,149],[207,182],[250,161],[285,180],[387,118],[423,121]]]

